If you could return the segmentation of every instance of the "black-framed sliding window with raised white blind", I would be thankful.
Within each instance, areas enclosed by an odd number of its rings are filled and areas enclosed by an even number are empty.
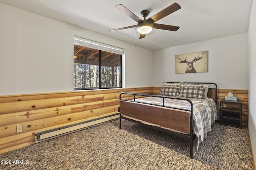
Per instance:
[[[74,90],[121,88],[124,49],[74,37]]]

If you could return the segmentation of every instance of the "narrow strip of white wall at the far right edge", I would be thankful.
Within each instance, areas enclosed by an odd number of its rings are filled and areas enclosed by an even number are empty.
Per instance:
[[[252,150],[254,153],[254,161],[256,161],[256,2],[252,3],[252,11],[250,16],[250,24],[248,29],[248,70],[249,70],[249,118],[248,129]],[[256,162],[255,162],[256,163]]]

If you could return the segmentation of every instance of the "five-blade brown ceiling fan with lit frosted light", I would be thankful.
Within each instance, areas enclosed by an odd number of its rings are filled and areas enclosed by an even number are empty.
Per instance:
[[[177,4],[176,2],[173,3],[172,5],[168,6],[164,10],[158,12],[154,16],[148,18],[147,20],[146,20],[146,17],[149,14],[148,10],[142,10],[140,12],[140,14],[144,17],[144,20],[142,20],[138,16],[133,14],[130,10],[128,10],[122,4],[116,5],[115,7],[118,10],[120,10],[121,12],[123,12],[124,14],[126,14],[128,17],[130,17],[133,20],[135,20],[136,22],[138,22],[138,23],[137,23],[137,25],[131,25],[131,26],[128,26],[128,27],[112,29],[110,31],[118,31],[118,30],[121,30],[121,29],[136,27],[137,31],[140,33],[140,39],[141,39],[141,38],[146,37],[146,34],[150,33],[153,28],[155,28],[155,29],[165,29],[165,30],[169,30],[169,31],[177,31],[180,28],[178,26],[173,26],[173,25],[165,25],[165,24],[160,24],[160,23],[154,23],[154,22],[168,16],[169,14],[172,14],[173,12],[179,10],[181,8],[181,6],[179,4]]]

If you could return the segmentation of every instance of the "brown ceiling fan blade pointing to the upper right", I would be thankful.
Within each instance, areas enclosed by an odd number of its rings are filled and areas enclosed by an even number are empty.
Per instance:
[[[164,8],[162,11],[158,12],[154,16],[148,18],[147,21],[154,23],[154,22],[168,16],[169,14],[172,14],[173,12],[179,10],[180,8],[181,8],[181,6],[175,2],[172,5],[168,6],[167,8]]]

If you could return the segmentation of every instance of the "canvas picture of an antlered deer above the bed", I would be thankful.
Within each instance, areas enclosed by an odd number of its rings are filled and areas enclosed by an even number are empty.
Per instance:
[[[175,55],[175,73],[207,72],[207,51]]]

